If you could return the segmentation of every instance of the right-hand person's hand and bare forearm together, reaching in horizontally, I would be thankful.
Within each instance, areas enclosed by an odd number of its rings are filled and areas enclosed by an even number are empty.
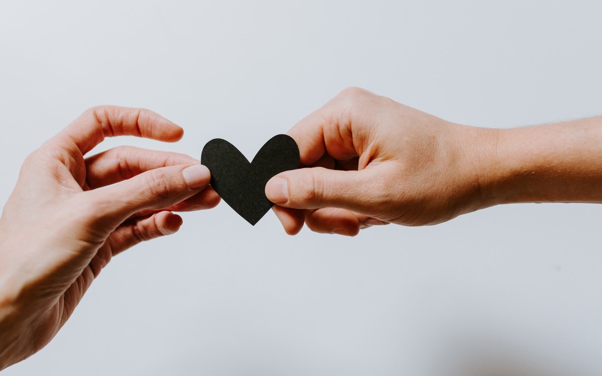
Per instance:
[[[306,168],[265,194],[287,233],[355,236],[503,203],[602,202],[602,117],[514,129],[459,125],[347,88],[288,131]]]

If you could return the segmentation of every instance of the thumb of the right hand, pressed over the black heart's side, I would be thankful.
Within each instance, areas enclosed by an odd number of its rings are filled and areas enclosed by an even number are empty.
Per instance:
[[[323,167],[285,171],[265,185],[265,196],[285,208],[344,208],[373,211],[372,173],[368,170],[341,171]]]

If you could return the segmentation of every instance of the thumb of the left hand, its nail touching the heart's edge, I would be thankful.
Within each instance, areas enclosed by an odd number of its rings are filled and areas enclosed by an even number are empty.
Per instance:
[[[155,168],[101,190],[90,191],[98,214],[120,223],[135,212],[175,205],[202,191],[211,179],[202,164]],[[104,211],[104,212],[103,212]]]

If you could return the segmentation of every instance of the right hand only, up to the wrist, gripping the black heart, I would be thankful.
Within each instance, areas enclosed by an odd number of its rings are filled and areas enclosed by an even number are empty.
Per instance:
[[[305,222],[316,232],[353,236],[373,224],[435,224],[483,206],[476,156],[489,144],[489,129],[349,88],[287,134],[306,168],[265,188],[287,233]]]

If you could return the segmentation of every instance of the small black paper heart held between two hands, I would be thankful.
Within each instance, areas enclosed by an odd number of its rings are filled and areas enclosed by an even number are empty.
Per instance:
[[[200,156],[211,171],[211,186],[247,222],[255,226],[274,205],[265,197],[265,183],[282,171],[299,167],[299,147],[292,137],[272,137],[249,163],[226,140],[209,141]]]

